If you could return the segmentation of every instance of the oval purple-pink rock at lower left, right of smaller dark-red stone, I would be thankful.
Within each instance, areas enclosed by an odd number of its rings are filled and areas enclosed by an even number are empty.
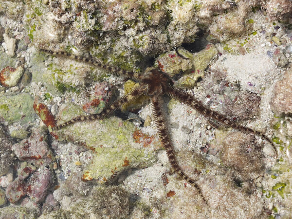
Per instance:
[[[51,171],[40,169],[32,174],[27,183],[27,195],[36,202],[44,201],[51,184]]]

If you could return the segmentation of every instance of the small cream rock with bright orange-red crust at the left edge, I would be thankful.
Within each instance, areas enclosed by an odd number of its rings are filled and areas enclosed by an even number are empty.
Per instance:
[[[0,82],[5,87],[16,86],[24,72],[22,66],[17,69],[7,66],[0,73]]]

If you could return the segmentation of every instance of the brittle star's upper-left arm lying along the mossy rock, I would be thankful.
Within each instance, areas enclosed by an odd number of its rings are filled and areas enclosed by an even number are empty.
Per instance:
[[[101,69],[104,69],[104,70],[108,71],[109,73],[116,75],[116,76],[122,76],[122,77],[130,78],[130,79],[133,79],[136,81],[139,80],[139,78],[140,78],[140,74],[138,74],[136,72],[129,72],[129,71],[126,71],[125,69],[120,69],[120,68],[117,68],[115,66],[105,65],[105,64],[103,64],[103,62],[100,59],[93,58],[92,56],[85,57],[83,55],[72,55],[72,54],[69,54],[69,53],[66,53],[63,51],[55,52],[55,51],[46,50],[46,49],[39,49],[39,51],[42,51],[42,52],[45,52],[45,53],[48,53],[51,55],[68,56],[72,59],[95,65],[95,66],[97,66]]]

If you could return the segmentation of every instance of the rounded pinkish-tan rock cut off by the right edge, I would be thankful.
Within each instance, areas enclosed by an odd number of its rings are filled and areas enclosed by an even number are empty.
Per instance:
[[[285,72],[282,80],[275,83],[273,92],[272,109],[277,113],[292,113],[292,68]]]

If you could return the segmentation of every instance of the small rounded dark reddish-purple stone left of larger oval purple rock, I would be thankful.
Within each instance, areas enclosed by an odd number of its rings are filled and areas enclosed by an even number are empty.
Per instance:
[[[5,191],[6,198],[11,203],[15,203],[26,195],[26,185],[25,183],[16,178],[12,183],[10,183]]]

